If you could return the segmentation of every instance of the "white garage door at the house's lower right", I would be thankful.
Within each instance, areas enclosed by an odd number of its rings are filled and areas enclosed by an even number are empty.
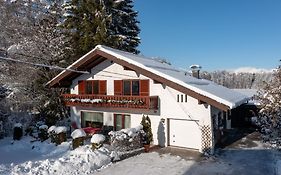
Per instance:
[[[199,149],[201,131],[195,121],[170,119],[170,145]]]

